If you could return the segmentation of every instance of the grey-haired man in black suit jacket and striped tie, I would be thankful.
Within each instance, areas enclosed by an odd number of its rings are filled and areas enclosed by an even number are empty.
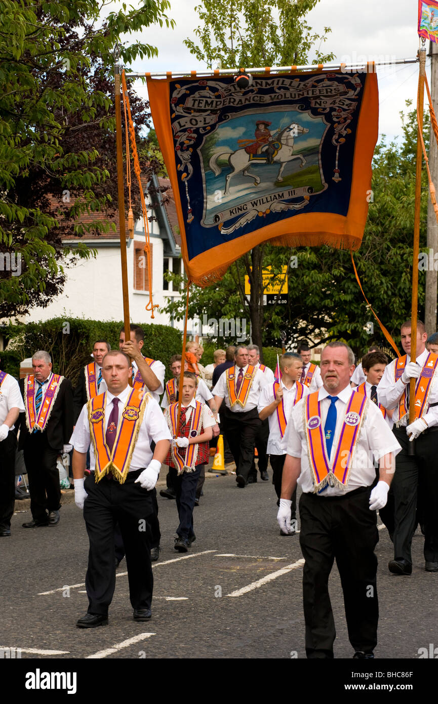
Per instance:
[[[73,431],[69,380],[53,374],[51,357],[42,350],[32,357],[32,368],[33,374],[20,379],[25,414],[20,419],[18,449],[24,450],[32,512],[32,520],[23,523],[24,528],[59,522],[61,489],[56,458],[70,449],[68,441]]]

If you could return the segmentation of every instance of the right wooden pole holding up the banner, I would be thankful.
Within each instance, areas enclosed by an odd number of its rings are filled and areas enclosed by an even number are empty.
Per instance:
[[[413,229],[413,263],[412,263],[412,308],[411,308],[411,362],[416,361],[417,356],[417,308],[418,308],[418,253],[420,251],[420,206],[421,206],[421,168],[423,163],[423,147],[421,145],[420,134],[423,132],[423,103],[425,93],[426,74],[426,47],[423,40],[418,56],[420,58],[420,72],[418,75],[418,126],[417,126],[417,163],[415,168],[415,209],[414,209],[414,229]],[[409,423],[415,420],[415,384],[416,379],[409,382]],[[408,454],[415,454],[414,443],[408,443]]]

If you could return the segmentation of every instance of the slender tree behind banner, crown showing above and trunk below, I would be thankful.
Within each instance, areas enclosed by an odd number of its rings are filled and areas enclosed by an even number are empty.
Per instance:
[[[301,65],[308,63],[313,54],[314,63],[332,61],[333,54],[323,54],[321,45],[326,42],[330,27],[322,35],[313,32],[306,22],[306,15],[319,0],[203,0],[196,6],[201,25],[195,30],[199,44],[186,39],[196,58],[205,61],[209,68],[246,68],[274,65]],[[211,149],[214,144],[211,144]],[[275,251],[274,251],[275,250]],[[275,310],[263,309],[262,270],[268,265],[273,272],[280,272],[281,265],[289,261],[284,249],[261,244],[247,253],[224,277],[224,285],[234,278],[234,291],[239,296],[241,309],[246,298],[242,282],[244,276],[251,281],[248,301],[252,339],[262,347],[263,329],[276,318]],[[196,298],[202,294],[194,294]],[[175,303],[169,303],[168,310]]]

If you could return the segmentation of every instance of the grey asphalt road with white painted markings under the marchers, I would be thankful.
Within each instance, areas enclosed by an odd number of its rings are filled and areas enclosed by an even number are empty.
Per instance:
[[[123,560],[109,624],[89,630],[75,627],[87,610],[88,539],[74,492],[63,494],[56,527],[23,529],[30,511],[18,501],[12,536],[0,539],[0,649],[20,648],[23,659],[41,660],[304,659],[299,536],[280,536],[269,474],[270,482],[259,477],[257,484],[238,489],[232,474],[206,472],[204,496],[194,509],[196,541],[187,555],[173,549],[175,501],[158,496],[162,551],[153,567],[152,620],[132,620]],[[375,655],[415,659],[420,648],[438,646],[438,574],[424,570],[419,533],[413,539],[411,577],[389,574],[391,548],[382,527],[376,548],[380,624]],[[336,566],[330,594],[335,658],[351,658]]]

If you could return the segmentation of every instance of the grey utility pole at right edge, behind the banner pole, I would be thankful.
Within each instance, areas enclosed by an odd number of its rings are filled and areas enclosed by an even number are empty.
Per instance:
[[[435,42],[430,42],[429,56],[431,63],[430,94],[435,115],[438,115],[438,46]],[[430,127],[429,168],[434,186],[438,189],[438,148],[432,125]],[[433,332],[437,332],[438,224],[430,199],[427,203],[427,249],[429,255],[432,250],[432,261],[429,256],[427,258],[429,265],[426,270],[425,325],[427,333],[431,335]]]

